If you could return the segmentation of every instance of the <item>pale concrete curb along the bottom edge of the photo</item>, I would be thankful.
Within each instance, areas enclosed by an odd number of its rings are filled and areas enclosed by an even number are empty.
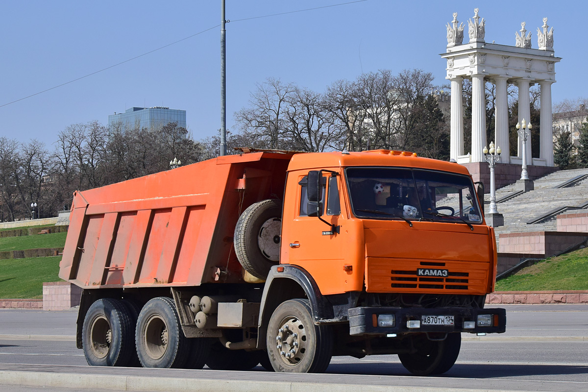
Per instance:
[[[54,388],[76,388],[150,391],[150,392],[487,392],[488,389],[436,388],[430,386],[377,386],[335,383],[308,383],[292,381],[214,380],[211,378],[172,378],[111,376],[102,374],[42,373],[34,371],[0,371],[0,384],[18,386],[43,386]],[[501,390],[493,392],[525,392]],[[527,391],[529,392],[529,391]]]

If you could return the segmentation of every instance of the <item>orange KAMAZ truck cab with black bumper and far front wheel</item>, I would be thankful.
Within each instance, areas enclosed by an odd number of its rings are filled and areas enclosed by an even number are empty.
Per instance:
[[[286,275],[310,281],[315,322],[345,331],[338,350],[397,353],[415,374],[449,369],[461,332],[505,331],[505,311],[483,309],[494,232],[456,163],[390,150],[293,156],[266,295]],[[423,350],[439,358],[419,360]]]

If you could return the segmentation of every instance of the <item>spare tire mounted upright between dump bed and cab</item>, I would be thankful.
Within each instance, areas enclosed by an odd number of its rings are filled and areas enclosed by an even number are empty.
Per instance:
[[[262,200],[250,205],[235,226],[234,244],[243,268],[259,279],[280,260],[282,206],[278,200]]]

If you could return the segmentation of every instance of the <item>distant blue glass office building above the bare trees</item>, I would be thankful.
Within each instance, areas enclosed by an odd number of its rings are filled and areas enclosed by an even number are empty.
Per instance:
[[[164,108],[130,108],[124,113],[114,113],[108,116],[108,125],[121,124],[127,128],[159,129],[168,123],[177,122],[179,127],[186,128],[186,110]]]

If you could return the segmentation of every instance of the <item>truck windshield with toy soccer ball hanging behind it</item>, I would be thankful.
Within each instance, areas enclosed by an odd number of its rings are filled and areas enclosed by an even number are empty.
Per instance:
[[[357,217],[482,223],[467,176],[397,167],[349,167],[345,173]]]

